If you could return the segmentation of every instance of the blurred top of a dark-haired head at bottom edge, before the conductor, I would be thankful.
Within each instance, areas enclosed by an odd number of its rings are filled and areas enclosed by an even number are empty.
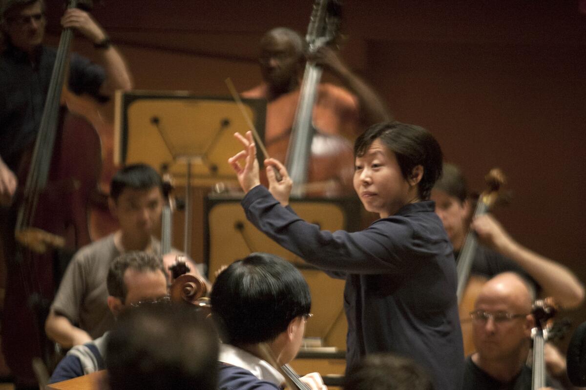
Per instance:
[[[431,379],[413,360],[393,354],[372,354],[350,368],[344,390],[433,390]]]

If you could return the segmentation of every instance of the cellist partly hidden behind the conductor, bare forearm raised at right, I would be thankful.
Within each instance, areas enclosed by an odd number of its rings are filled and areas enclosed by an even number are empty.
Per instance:
[[[584,287],[573,272],[517,243],[492,215],[477,216],[468,228],[471,201],[464,177],[455,165],[444,164],[444,174],[432,189],[431,199],[454,246],[456,259],[469,229],[476,232],[482,245],[474,255],[473,275],[491,278],[500,272],[515,271],[564,308],[575,308],[584,301]]]

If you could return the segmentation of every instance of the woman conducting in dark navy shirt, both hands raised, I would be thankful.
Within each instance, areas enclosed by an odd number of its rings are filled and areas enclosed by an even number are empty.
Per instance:
[[[288,207],[291,179],[274,159],[260,185],[252,134],[231,157],[246,192],[248,220],[285,249],[346,279],[347,369],[366,354],[394,352],[431,373],[435,388],[459,389],[462,334],[452,247],[429,192],[441,174],[440,145],[427,130],[399,122],[370,127],[355,143],[354,188],[380,219],[362,232],[322,231]],[[246,159],[241,166],[239,160]]]

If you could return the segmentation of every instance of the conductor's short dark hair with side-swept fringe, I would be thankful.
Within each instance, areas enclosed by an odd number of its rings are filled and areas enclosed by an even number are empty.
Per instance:
[[[420,198],[429,199],[431,189],[442,173],[441,147],[431,133],[421,126],[397,121],[378,123],[356,139],[354,156],[364,156],[376,140],[393,151],[405,180],[411,177],[417,165],[423,167],[423,177],[417,187]]]

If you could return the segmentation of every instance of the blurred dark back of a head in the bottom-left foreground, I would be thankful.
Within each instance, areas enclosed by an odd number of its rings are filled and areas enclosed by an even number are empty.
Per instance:
[[[185,305],[141,305],[108,333],[110,390],[216,390],[213,326]]]

